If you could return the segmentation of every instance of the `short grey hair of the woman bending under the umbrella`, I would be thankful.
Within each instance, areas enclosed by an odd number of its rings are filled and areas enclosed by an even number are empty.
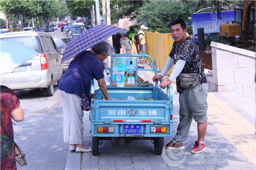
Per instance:
[[[103,56],[109,56],[114,52],[114,49],[112,46],[107,43],[106,41],[102,41],[92,47],[92,50],[95,52],[95,54],[103,55]]]

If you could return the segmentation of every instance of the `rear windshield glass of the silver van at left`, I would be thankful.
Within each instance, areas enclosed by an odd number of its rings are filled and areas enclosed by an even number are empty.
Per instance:
[[[32,47],[38,53],[43,52],[40,39],[38,36],[19,36],[19,37],[3,37],[1,41],[13,41],[23,46]]]

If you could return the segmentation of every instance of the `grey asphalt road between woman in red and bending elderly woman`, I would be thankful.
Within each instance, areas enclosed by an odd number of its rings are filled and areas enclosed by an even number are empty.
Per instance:
[[[61,35],[56,30],[51,35]],[[67,160],[68,144],[63,142],[61,96],[54,87],[54,96],[46,97],[41,90],[15,91],[24,110],[25,119],[14,122],[15,141],[24,150],[27,166],[18,170],[63,170]]]

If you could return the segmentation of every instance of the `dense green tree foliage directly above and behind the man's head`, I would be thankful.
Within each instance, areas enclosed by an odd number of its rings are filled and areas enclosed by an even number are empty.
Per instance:
[[[242,0],[152,0],[137,10],[137,19],[147,23],[150,31],[168,32],[170,21],[180,18],[191,22],[192,14],[202,8],[216,7],[208,11],[221,11],[221,7],[233,9],[242,5]]]

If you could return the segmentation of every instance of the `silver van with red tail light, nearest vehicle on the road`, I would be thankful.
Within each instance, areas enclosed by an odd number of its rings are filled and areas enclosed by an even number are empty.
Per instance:
[[[0,39],[32,47],[38,52],[37,56],[15,68],[13,72],[1,75],[1,85],[24,91],[43,88],[47,96],[53,96],[54,83],[61,78],[63,69],[61,56],[51,35],[40,32],[15,32],[0,34]]]

